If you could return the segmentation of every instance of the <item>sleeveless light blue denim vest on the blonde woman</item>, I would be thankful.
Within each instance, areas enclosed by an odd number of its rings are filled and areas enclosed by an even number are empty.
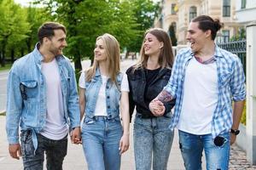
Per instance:
[[[121,97],[120,87],[123,78],[123,73],[119,73],[117,76],[117,83],[111,82],[111,79],[108,79],[106,85],[106,105],[107,105],[107,114],[108,119],[113,119],[119,116],[119,101]],[[93,77],[90,82],[85,82],[85,119],[93,118],[96,100],[98,98],[99,90],[102,86],[102,77],[99,69],[96,69],[96,75]]]

